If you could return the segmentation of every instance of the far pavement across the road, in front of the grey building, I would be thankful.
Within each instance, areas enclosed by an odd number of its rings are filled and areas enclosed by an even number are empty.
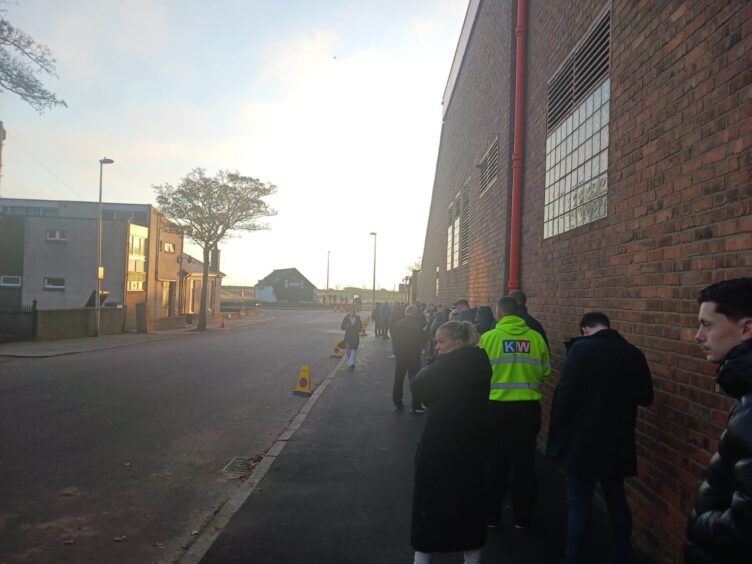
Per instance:
[[[243,327],[262,323],[273,318],[273,314],[261,314],[258,317],[244,317],[207,323],[207,331],[223,331],[235,327]],[[194,327],[171,329],[166,331],[152,331],[150,333],[120,333],[117,335],[101,335],[100,337],[81,337],[77,339],[60,339],[57,341],[14,341],[0,343],[0,357],[16,358],[45,358],[67,354],[85,353],[103,349],[113,349],[137,345],[139,343],[177,339],[196,334]]]

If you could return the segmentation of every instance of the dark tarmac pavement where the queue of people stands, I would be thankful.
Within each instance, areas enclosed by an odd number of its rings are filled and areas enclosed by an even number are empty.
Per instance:
[[[354,371],[338,366],[261,459],[237,494],[198,532],[181,564],[412,562],[413,459],[424,415],[392,412],[389,341],[361,339]],[[409,390],[405,391],[406,399]],[[409,402],[406,402],[409,403]],[[489,530],[483,562],[561,562],[564,475],[538,457],[539,505],[529,530]],[[609,531],[595,505],[585,564],[604,562]],[[435,564],[459,563],[460,553]],[[636,553],[634,564],[652,562]]]

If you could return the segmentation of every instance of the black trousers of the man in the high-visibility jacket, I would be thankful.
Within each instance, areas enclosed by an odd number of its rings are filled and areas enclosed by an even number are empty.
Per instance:
[[[514,524],[530,526],[538,494],[535,448],[540,431],[540,402],[488,402],[486,488],[488,523],[500,523],[510,486]]]

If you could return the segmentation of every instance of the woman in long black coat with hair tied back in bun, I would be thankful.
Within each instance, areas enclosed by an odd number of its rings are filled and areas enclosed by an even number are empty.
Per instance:
[[[415,458],[411,544],[415,563],[431,552],[465,551],[480,562],[486,540],[484,468],[491,364],[469,322],[436,331],[436,360],[410,384],[428,406]]]

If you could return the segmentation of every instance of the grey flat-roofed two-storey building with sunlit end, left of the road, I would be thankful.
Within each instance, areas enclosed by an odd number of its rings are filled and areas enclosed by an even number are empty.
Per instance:
[[[0,198],[0,304],[84,307],[97,287],[97,202]],[[151,205],[102,204],[105,306],[126,307],[126,329],[176,317],[181,229]],[[137,311],[143,319],[137,320]]]

